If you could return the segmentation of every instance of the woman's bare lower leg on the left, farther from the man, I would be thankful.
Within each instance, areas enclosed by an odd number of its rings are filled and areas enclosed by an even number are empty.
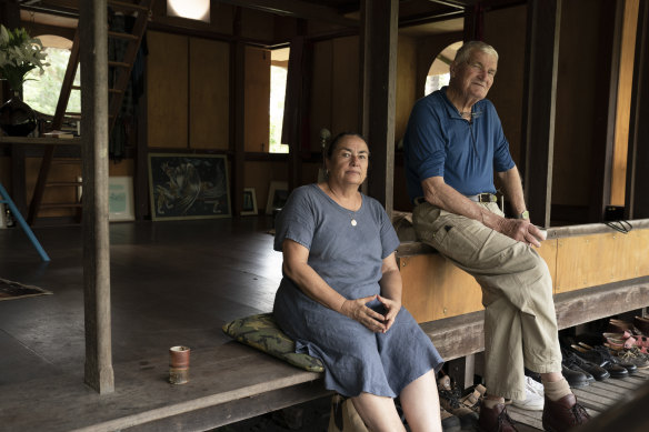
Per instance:
[[[361,393],[351,398],[353,408],[371,432],[405,432],[392,398]]]

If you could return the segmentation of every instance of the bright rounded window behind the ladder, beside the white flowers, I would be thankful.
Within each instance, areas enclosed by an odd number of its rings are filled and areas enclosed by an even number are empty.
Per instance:
[[[52,34],[38,36],[43,44],[44,52],[50,63],[41,76],[39,69],[33,69],[27,74],[28,81],[22,86],[23,100],[33,110],[47,115],[53,115],[59,102],[61,86],[70,59],[72,41]],[[74,78],[74,86],[79,86],[79,69]],[[68,112],[81,112],[81,94],[79,90],[72,90],[68,102]]]

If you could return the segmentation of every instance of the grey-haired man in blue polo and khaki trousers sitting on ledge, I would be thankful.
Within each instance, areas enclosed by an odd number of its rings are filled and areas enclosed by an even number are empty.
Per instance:
[[[530,223],[500,119],[485,99],[497,66],[492,47],[465,43],[450,66],[449,86],[412,109],[405,137],[412,222],[421,241],[482,288],[489,393],[480,406],[480,430],[516,431],[503,398],[526,398],[527,366],[541,374],[543,428],[566,431],[589,415],[561,374],[552,280],[531,248],[545,235]],[[505,218],[496,202],[495,170],[513,218]]]

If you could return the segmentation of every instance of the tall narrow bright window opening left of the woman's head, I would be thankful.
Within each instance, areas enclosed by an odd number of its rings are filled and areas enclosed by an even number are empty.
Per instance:
[[[281,143],[284,97],[287,92],[287,73],[289,68],[289,48],[270,52],[270,152],[288,153],[288,144]]]

